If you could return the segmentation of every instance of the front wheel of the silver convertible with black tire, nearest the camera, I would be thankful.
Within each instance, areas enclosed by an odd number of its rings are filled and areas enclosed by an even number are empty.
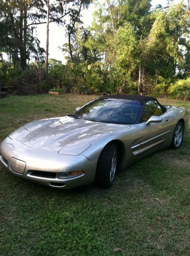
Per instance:
[[[100,187],[111,187],[118,162],[118,148],[116,144],[108,144],[104,147],[98,159],[95,183]]]

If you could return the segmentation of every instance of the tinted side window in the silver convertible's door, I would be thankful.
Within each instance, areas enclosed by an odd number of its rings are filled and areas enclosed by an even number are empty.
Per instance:
[[[160,116],[161,114],[159,104],[155,100],[149,100],[145,105],[142,121],[146,122],[151,116]]]

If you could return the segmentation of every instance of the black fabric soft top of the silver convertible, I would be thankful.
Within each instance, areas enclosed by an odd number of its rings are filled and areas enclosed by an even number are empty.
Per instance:
[[[142,103],[146,103],[149,100],[157,101],[157,99],[154,98],[154,97],[141,96],[141,95],[129,95],[129,94],[112,94],[112,95],[100,96],[99,98],[104,98],[104,99],[110,99],[110,98],[111,99],[129,99],[129,100],[137,100],[137,101],[140,101]],[[165,113],[166,112],[165,106],[161,105],[159,102],[158,102],[158,104],[159,104],[162,112]]]

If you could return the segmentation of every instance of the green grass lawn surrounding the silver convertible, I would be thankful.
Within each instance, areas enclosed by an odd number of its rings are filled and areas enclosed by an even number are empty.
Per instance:
[[[0,99],[0,141],[26,122],[63,116],[96,96]],[[184,106],[189,101],[160,99]],[[177,151],[120,171],[110,189],[56,190],[0,167],[0,255],[189,255],[190,129]],[[119,254],[119,253],[118,253]]]

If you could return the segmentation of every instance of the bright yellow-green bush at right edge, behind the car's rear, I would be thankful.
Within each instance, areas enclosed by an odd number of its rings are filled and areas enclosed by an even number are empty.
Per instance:
[[[180,79],[168,88],[169,96],[177,99],[190,99],[190,77]]]

